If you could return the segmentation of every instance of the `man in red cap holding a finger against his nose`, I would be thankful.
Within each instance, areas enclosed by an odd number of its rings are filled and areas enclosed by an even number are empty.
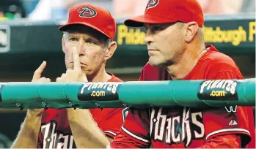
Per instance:
[[[67,72],[56,82],[122,82],[105,70],[106,61],[117,49],[116,23],[108,10],[77,5],[59,30],[64,31],[62,50]],[[44,61],[32,82],[51,81],[41,77],[45,66]],[[12,148],[104,148],[122,126],[122,113],[121,108],[28,110]],[[91,145],[91,141],[97,143]]]

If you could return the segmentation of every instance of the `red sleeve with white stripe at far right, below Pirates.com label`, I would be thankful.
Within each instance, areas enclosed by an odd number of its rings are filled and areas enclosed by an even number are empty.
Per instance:
[[[234,72],[224,71],[212,75],[209,79],[227,80],[243,79],[243,77]],[[238,134],[241,136],[241,145],[247,145],[251,141],[251,136],[255,136],[255,130],[250,129],[250,125],[254,125],[251,114],[252,107],[226,106],[204,110],[205,139],[209,140],[220,135]]]

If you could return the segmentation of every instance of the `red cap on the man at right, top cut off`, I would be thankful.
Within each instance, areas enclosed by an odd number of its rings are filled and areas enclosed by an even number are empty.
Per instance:
[[[139,27],[143,23],[204,23],[202,8],[197,0],[150,0],[144,15],[125,20],[126,26]]]

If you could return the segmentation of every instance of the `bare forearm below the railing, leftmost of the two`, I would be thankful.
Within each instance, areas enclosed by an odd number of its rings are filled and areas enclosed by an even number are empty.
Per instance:
[[[25,121],[21,124],[21,130],[11,148],[37,148],[40,126],[41,116],[32,115],[28,110]]]

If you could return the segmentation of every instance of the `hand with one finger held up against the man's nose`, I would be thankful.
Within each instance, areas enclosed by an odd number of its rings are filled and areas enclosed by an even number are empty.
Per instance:
[[[56,79],[56,82],[87,82],[87,77],[81,71],[78,50],[73,47],[73,69],[67,69],[66,73]]]

